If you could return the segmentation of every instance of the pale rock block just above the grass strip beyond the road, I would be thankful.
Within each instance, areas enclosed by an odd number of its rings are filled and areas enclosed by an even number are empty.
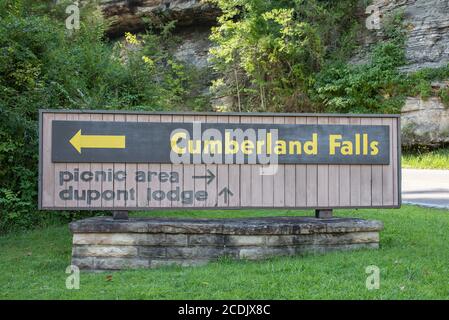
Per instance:
[[[402,108],[402,144],[438,146],[449,143],[449,108],[439,98],[407,98]]]

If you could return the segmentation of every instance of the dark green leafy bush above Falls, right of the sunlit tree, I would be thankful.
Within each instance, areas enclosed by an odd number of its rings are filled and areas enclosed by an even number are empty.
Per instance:
[[[394,113],[403,105],[399,92],[404,75],[403,50],[393,42],[373,50],[371,61],[359,66],[332,64],[316,77],[311,90],[323,109],[340,113]]]

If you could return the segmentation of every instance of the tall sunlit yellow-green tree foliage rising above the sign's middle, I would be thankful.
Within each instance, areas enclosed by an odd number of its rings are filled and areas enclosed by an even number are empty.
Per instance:
[[[239,110],[315,110],[308,91],[326,58],[351,51],[336,33],[356,30],[357,1],[213,2],[223,12],[211,35],[217,87],[236,93]]]

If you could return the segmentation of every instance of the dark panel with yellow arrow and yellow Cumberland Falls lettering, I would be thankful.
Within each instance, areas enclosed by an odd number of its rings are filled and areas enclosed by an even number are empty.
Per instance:
[[[244,163],[254,163],[251,156],[255,163],[267,163],[259,159],[263,155],[271,157],[269,163],[279,164],[390,161],[389,127],[383,125],[54,120],[52,130],[53,162],[173,163],[173,152],[187,154],[189,162],[182,163],[211,163],[204,154],[215,155],[215,159],[218,154],[220,160],[214,163],[241,163],[237,160],[240,153]],[[230,156],[232,162],[225,162]]]

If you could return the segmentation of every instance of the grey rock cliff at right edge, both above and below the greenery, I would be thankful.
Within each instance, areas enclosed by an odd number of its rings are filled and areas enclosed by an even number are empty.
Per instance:
[[[380,22],[402,11],[407,28],[403,72],[437,68],[449,63],[449,0],[374,0]],[[364,37],[365,50],[384,37],[382,29]],[[355,60],[366,60],[359,55]],[[441,87],[441,86],[440,86]],[[442,87],[447,87],[443,84]],[[449,143],[449,109],[438,97],[409,97],[402,108],[402,142],[405,146],[440,146]]]

